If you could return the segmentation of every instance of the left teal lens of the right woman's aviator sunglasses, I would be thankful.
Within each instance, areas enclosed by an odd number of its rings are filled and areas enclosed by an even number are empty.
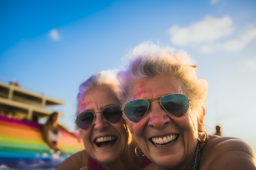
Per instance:
[[[148,107],[149,102],[147,100],[132,100],[124,106],[124,113],[129,120],[137,123],[144,117],[148,111]]]

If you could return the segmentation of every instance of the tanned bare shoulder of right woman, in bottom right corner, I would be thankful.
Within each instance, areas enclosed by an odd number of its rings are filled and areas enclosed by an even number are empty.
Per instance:
[[[242,139],[209,135],[202,152],[200,168],[255,170],[255,150]]]

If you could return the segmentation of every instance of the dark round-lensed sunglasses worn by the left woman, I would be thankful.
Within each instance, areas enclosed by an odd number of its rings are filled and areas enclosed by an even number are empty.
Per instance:
[[[95,113],[101,113],[101,115],[112,124],[117,123],[122,118],[122,111],[117,106],[107,106],[101,110],[101,112],[94,112],[86,110],[80,113],[76,117],[76,125],[83,129],[87,130],[92,125],[92,122],[96,119]]]

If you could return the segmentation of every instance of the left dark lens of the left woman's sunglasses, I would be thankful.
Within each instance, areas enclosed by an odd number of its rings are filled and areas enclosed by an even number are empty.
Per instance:
[[[76,124],[81,129],[88,129],[90,128],[92,122],[94,119],[94,114],[90,111],[85,111],[83,113],[80,113],[76,117]]]

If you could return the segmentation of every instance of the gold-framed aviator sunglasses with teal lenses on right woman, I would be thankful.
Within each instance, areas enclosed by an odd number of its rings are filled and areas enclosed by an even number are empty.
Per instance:
[[[190,101],[193,101],[193,99],[189,99],[182,94],[170,94],[159,97],[161,97],[159,99],[160,105],[174,117],[182,117],[189,109]],[[148,99],[154,98],[158,97]],[[149,109],[150,103],[148,102],[148,99],[131,100],[127,102],[121,110],[124,111],[124,114],[130,121],[138,123],[146,115]]]

